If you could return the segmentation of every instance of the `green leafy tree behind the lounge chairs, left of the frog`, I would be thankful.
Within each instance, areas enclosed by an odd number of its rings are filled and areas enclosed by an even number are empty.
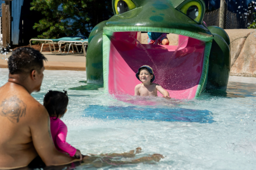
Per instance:
[[[33,0],[30,10],[45,16],[33,26],[40,39],[86,36],[98,23],[113,16],[112,0]]]

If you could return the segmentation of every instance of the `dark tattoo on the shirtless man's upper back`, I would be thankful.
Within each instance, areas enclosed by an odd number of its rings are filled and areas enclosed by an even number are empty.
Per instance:
[[[7,117],[13,123],[15,121],[18,123],[20,118],[26,114],[26,104],[16,95],[4,99],[0,108],[0,115]]]

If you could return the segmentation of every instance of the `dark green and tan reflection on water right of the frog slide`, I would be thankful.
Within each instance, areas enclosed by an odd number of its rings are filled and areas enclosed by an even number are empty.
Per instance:
[[[243,82],[229,82],[227,91],[206,90],[205,94],[218,97],[256,97],[256,84]],[[204,93],[202,95],[204,95]]]

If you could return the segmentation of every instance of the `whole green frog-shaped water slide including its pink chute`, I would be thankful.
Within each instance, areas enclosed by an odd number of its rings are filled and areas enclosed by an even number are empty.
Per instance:
[[[87,83],[110,94],[134,95],[138,68],[150,65],[154,82],[172,98],[193,99],[206,89],[226,89],[230,40],[203,23],[203,0],[113,0],[114,16],[89,36]],[[178,45],[140,44],[138,32],[178,34]]]

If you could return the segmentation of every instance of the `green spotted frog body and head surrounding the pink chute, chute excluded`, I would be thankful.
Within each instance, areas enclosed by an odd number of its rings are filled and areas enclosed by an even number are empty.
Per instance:
[[[226,89],[230,73],[230,40],[217,26],[204,22],[203,0],[113,0],[114,16],[99,23],[89,36],[86,57],[87,83],[104,82],[103,35],[113,32],[141,31],[179,34],[208,44],[206,89]],[[203,86],[203,84],[202,84]]]

